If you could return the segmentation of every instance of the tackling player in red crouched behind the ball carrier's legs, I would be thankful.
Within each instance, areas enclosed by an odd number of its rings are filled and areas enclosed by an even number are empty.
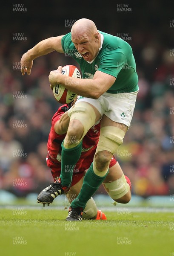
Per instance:
[[[46,189],[43,189],[43,191],[38,195],[38,203],[42,203],[44,206],[45,204],[49,205],[52,203],[57,195],[61,195],[63,193],[66,194],[66,197],[70,203],[77,197],[83,184],[83,177],[86,173],[86,170],[91,165],[96,151],[100,135],[100,123],[93,125],[87,132],[86,136],[83,138],[82,153],[80,159],[74,166],[71,188],[67,189],[67,187],[65,187],[62,188],[63,191],[55,192],[55,186],[57,185],[57,180],[60,179],[59,177],[61,173],[61,143],[66,136],[64,131],[66,130],[66,126],[68,125],[69,121],[69,117],[66,111],[68,111],[70,105],[71,103],[61,106],[51,120],[51,129],[47,143],[48,155],[46,157],[46,163],[47,166],[51,169],[51,174],[55,182],[50,183],[50,186],[48,186]],[[73,140],[74,138],[69,139]],[[71,166],[66,167],[66,171],[68,172],[71,169]],[[123,182],[123,179],[125,178],[129,186],[126,186]],[[121,186],[120,182],[123,183]],[[103,186],[106,189],[108,195],[110,195],[114,201],[119,203],[128,203],[130,201],[131,182],[128,177],[123,175],[120,165],[114,158],[111,159],[109,165],[109,173],[106,179],[103,181]],[[122,187],[122,189],[120,189],[120,187]],[[43,192],[47,193],[47,198],[49,193],[50,200],[47,200],[46,202],[40,200],[40,195],[43,198]],[[92,197],[88,200],[84,212],[86,213],[83,214],[83,218],[85,219],[106,219],[106,215],[101,212],[101,210],[97,210],[97,206]]]

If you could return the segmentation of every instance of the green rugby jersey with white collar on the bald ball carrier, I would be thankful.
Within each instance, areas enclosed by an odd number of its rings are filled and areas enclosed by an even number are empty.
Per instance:
[[[83,79],[92,79],[97,70],[116,78],[107,93],[134,92],[139,89],[136,63],[131,46],[123,39],[99,31],[103,35],[100,52],[92,63],[83,59],[71,41],[71,32],[62,38],[63,51],[80,66]]]

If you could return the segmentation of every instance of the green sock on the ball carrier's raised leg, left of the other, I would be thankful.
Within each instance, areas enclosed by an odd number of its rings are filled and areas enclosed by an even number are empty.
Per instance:
[[[74,166],[80,158],[82,151],[82,141],[74,148],[64,148],[62,143],[61,153],[61,184],[63,186],[70,186]]]

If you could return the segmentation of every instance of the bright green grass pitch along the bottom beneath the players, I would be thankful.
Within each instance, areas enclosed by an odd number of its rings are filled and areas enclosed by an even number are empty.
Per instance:
[[[105,212],[107,221],[65,221],[68,210],[0,209],[3,256],[174,256],[174,213]]]

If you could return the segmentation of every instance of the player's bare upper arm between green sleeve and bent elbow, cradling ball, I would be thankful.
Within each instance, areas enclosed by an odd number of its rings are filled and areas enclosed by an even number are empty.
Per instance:
[[[100,94],[105,93],[115,82],[114,76],[108,75],[102,71],[97,70],[93,78],[99,86]]]

